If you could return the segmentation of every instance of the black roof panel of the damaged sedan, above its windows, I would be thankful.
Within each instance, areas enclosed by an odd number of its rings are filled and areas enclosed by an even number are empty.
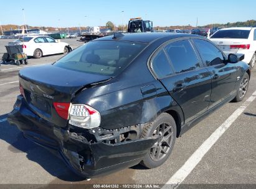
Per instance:
[[[148,32],[148,33],[133,33],[133,34],[116,34],[116,38],[113,39],[113,35],[108,35],[106,37],[101,37],[95,40],[119,40],[119,41],[131,41],[131,42],[143,42],[143,43],[151,43],[155,40],[161,39],[163,37],[167,37],[168,39],[176,39],[179,37],[193,37],[197,35],[191,34],[172,34],[169,32]]]

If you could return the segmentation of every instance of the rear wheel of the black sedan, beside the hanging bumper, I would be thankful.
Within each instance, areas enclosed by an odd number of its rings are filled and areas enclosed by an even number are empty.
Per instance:
[[[176,140],[176,123],[171,115],[162,113],[152,124],[145,127],[141,133],[142,138],[160,136],[148,154],[140,162],[146,168],[155,168],[162,165],[171,155]],[[168,137],[169,136],[169,137]],[[161,150],[160,150],[161,149]]]

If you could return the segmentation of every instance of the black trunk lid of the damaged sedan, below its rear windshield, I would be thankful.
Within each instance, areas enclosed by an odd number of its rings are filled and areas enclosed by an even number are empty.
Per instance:
[[[25,68],[19,72],[20,85],[28,106],[40,118],[60,127],[67,126],[67,120],[59,116],[54,103],[70,103],[78,90],[110,78],[53,65]]]

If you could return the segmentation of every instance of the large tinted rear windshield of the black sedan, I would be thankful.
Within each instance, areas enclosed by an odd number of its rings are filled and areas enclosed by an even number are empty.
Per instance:
[[[116,76],[147,44],[100,40],[88,42],[54,63],[69,70]]]

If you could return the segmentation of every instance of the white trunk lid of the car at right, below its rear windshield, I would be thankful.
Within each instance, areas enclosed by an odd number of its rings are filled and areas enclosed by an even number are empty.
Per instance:
[[[250,44],[247,39],[211,39],[220,50],[225,53],[237,53],[239,49],[230,49],[230,45],[247,45]]]

